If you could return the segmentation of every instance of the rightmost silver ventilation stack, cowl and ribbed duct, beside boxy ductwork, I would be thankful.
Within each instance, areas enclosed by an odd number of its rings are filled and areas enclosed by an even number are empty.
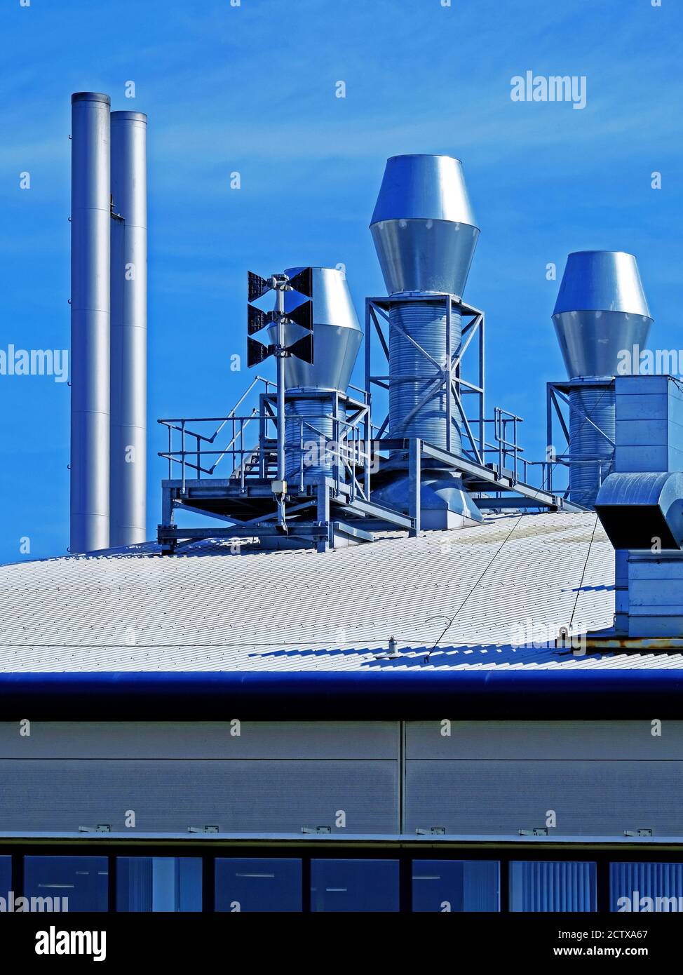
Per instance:
[[[613,466],[619,354],[637,355],[652,321],[632,254],[569,254],[552,322],[570,379],[569,498],[586,508]]]

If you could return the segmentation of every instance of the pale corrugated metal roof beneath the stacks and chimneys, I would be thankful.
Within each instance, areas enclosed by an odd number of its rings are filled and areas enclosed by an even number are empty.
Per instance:
[[[520,627],[547,643],[573,613],[610,625],[614,553],[599,525],[590,544],[594,527],[512,514],[324,555],[202,543],[6,565],[0,671],[683,667],[681,654],[516,645]],[[382,657],[392,636],[399,655]]]

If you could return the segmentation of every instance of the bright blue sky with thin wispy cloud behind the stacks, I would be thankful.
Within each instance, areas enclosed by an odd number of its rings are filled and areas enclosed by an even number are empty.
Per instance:
[[[343,262],[360,313],[384,293],[367,224],[386,158],[455,155],[481,227],[465,297],[486,312],[487,412],[521,414],[540,458],[564,377],[549,262],[636,254],[652,344],[683,348],[681,36],[677,0],[3,0],[0,348],[69,344],[71,93],[147,112],[152,537],[157,417],[222,414],[249,380],[230,371],[247,268]],[[586,108],[513,102],[527,70],[585,75]],[[68,459],[66,384],[0,376],[0,561],[65,551]]]

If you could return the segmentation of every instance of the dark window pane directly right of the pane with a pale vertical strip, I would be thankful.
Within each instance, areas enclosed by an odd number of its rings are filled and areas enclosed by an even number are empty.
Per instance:
[[[301,911],[301,861],[217,858],[216,911]]]

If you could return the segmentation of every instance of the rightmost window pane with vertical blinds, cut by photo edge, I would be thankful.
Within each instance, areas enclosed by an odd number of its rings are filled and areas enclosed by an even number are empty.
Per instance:
[[[683,911],[683,863],[611,863],[610,911]]]

